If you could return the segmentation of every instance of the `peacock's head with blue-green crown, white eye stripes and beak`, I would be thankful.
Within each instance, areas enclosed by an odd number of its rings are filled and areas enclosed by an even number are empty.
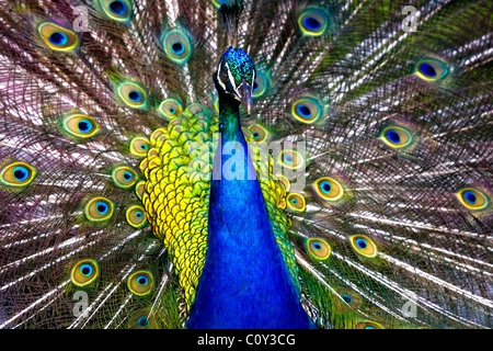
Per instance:
[[[255,81],[255,67],[245,52],[230,46],[221,56],[214,76],[219,94],[230,97],[242,103],[252,113],[252,87]]]

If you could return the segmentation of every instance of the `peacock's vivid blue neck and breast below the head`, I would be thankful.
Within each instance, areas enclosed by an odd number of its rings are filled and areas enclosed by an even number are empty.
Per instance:
[[[207,254],[186,326],[313,327],[275,240],[240,128],[239,106],[220,99],[219,111],[221,147],[217,148],[213,168]],[[238,143],[236,156],[222,155],[228,141]],[[244,161],[231,167],[233,157],[240,155]],[[234,172],[240,179],[231,180]]]

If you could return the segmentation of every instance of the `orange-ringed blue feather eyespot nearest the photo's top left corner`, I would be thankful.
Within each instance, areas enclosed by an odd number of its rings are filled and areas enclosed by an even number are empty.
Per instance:
[[[57,52],[70,52],[79,46],[79,36],[53,22],[42,22],[37,25],[37,33],[49,48]]]

